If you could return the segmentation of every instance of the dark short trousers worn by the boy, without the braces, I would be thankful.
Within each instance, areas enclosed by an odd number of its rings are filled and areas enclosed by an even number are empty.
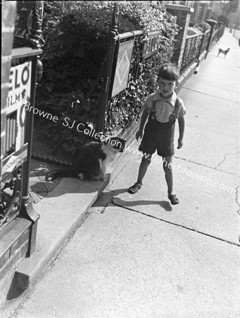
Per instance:
[[[158,122],[149,119],[144,129],[144,136],[139,151],[152,155],[155,151],[161,157],[174,155],[175,122]]]

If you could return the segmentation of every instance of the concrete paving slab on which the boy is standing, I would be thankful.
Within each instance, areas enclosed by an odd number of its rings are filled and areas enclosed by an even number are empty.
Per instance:
[[[114,192],[114,204],[239,245],[239,177],[177,158],[174,164],[174,191],[180,204],[170,205],[160,160],[152,160],[141,190],[129,194],[127,189],[137,181],[139,167],[131,160],[108,186]]]

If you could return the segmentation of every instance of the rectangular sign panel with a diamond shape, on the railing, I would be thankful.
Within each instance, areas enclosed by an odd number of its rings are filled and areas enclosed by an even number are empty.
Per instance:
[[[119,45],[118,61],[115,69],[112,97],[120,93],[122,90],[125,90],[125,88],[127,87],[133,46],[134,40],[120,43]]]

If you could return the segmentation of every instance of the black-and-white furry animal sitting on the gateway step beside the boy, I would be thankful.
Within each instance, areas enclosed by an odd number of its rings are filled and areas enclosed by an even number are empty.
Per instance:
[[[111,137],[104,142],[90,141],[75,155],[72,167],[65,170],[53,170],[46,175],[46,181],[58,177],[77,177],[80,180],[106,180],[106,170],[125,148],[124,139]]]

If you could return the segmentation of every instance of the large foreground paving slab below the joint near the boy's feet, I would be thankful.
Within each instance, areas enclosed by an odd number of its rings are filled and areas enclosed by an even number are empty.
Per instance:
[[[16,317],[237,318],[238,253],[235,245],[108,206],[75,232]]]

